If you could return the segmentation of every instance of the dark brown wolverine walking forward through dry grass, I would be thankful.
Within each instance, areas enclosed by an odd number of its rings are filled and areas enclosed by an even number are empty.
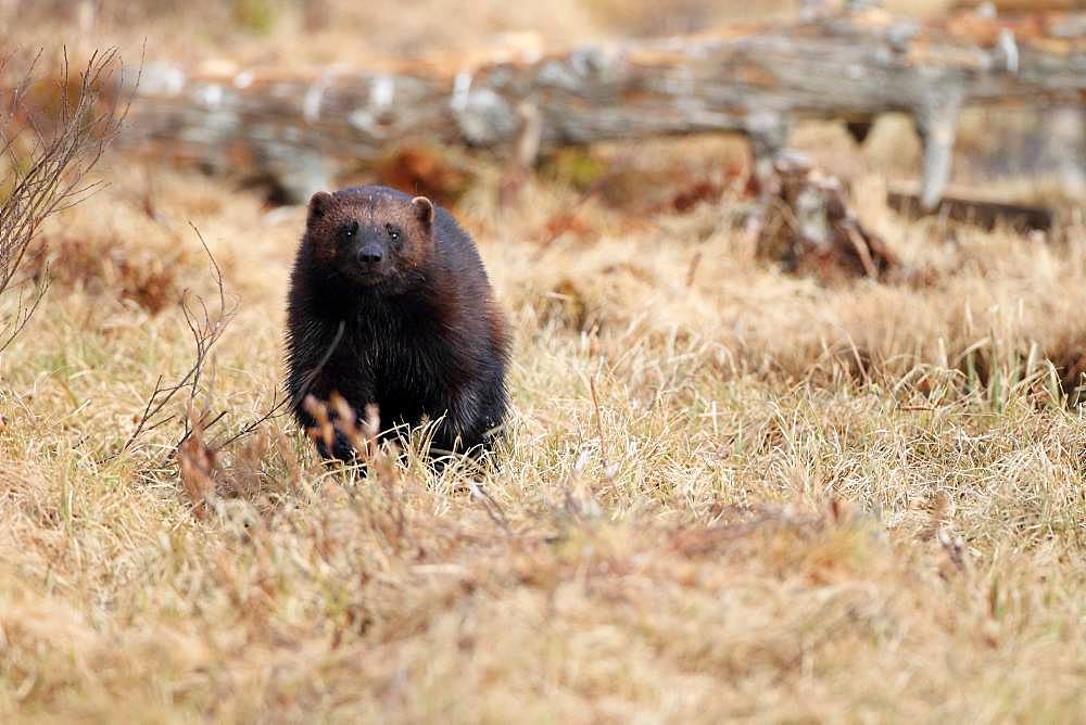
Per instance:
[[[443,208],[384,187],[310,201],[288,300],[287,389],[303,400],[342,395],[381,428],[441,421],[438,450],[478,453],[505,418],[509,341],[471,238]],[[343,460],[338,436],[320,454]]]

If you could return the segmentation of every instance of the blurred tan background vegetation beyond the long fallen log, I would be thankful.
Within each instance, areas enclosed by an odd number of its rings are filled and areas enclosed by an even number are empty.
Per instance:
[[[75,59],[115,46],[129,65],[142,56],[144,63],[171,62],[198,72],[301,71],[485,53],[509,43],[561,50],[598,39],[710,31],[753,20],[796,17],[842,2],[0,0],[0,23],[9,28],[2,41],[7,51],[41,48],[47,63],[59,59],[58,41],[63,39]],[[891,0],[883,7],[931,18],[977,4]],[[1001,0],[995,5],[999,12],[1083,7],[1079,0]],[[968,110],[961,119],[954,180],[973,186],[998,181],[1003,188],[996,189],[997,195],[1018,200],[1077,199],[1086,193],[1083,119],[1081,109],[1062,118],[1033,109]],[[862,149],[851,142],[843,124],[832,122],[800,125],[791,145],[811,153],[817,164],[845,179],[868,171],[914,178],[919,171],[920,143],[904,115],[880,118]]]

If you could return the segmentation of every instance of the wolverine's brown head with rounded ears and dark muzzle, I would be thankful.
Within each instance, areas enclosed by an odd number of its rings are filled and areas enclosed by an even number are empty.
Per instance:
[[[357,284],[404,283],[433,250],[433,215],[429,199],[386,187],[318,191],[305,240],[321,266]]]

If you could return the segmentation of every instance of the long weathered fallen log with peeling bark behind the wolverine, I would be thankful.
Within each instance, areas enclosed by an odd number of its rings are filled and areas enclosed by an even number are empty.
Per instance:
[[[869,10],[566,53],[311,75],[149,66],[126,140],[253,165],[302,200],[343,165],[416,142],[533,158],[568,144],[734,131],[750,138],[768,174],[797,120],[843,118],[862,129],[901,111],[924,143],[920,195],[931,208],[962,106],[1084,99],[1086,13],[919,23]]]

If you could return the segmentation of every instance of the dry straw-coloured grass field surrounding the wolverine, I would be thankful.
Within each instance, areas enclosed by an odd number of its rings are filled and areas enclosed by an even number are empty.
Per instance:
[[[616,3],[559,4],[618,27]],[[535,22],[489,7],[459,27]],[[299,33],[276,27],[238,44],[275,56]],[[0,721],[1082,722],[1083,200],[1051,240],[909,221],[825,138],[797,144],[853,169],[923,275],[785,275],[727,193],[644,211],[684,183],[644,169],[709,178],[733,141],[614,152],[649,179],[629,203],[555,163],[500,208],[500,169],[463,161],[455,213],[516,330],[500,467],[435,474],[416,435],[366,479],[287,418],[213,461],[190,446],[207,468],[181,475],[188,392],[113,456],[192,364],[181,301],[218,319],[190,222],[236,310],[192,397],[226,412],[203,440],[272,405],[304,209],[106,157],[108,188],[49,221],[51,289],[0,357]]]

